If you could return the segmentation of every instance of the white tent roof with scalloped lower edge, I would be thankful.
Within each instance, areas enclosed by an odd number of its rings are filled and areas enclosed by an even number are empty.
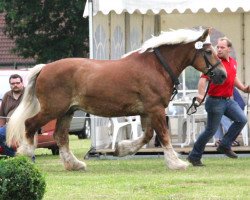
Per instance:
[[[84,17],[88,16],[86,1]],[[198,12],[250,12],[250,3],[246,0],[93,0],[93,15],[111,11],[121,14],[139,12],[151,13],[198,13]]]

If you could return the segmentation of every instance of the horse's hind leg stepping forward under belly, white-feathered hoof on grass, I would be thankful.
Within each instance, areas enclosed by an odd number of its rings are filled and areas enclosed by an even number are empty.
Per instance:
[[[59,147],[60,157],[67,170],[85,170],[86,164],[78,160],[69,149],[69,126],[72,119],[71,114],[58,118],[54,138]]]

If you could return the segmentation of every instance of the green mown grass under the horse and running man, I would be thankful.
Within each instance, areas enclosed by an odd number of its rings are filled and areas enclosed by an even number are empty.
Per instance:
[[[83,160],[90,141],[70,136],[72,151]],[[163,156],[128,156],[85,160],[86,172],[66,171],[59,156],[36,150],[36,165],[45,174],[44,199],[250,199],[250,157],[205,157],[206,167],[166,169]]]

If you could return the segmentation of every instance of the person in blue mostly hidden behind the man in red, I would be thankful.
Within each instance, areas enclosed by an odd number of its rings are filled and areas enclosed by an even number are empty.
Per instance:
[[[236,101],[239,104],[240,108],[244,111],[246,104],[245,104],[242,96],[240,95],[239,91],[236,88],[234,88],[233,99],[234,99],[234,101]],[[214,135],[215,140],[216,140],[215,146],[220,145],[221,138],[224,135],[223,132],[226,133],[228,131],[229,127],[231,126],[231,124],[232,124],[232,121],[228,117],[223,115],[221,118],[220,126]],[[235,140],[235,141],[233,141],[232,146],[240,146],[240,143]]]

